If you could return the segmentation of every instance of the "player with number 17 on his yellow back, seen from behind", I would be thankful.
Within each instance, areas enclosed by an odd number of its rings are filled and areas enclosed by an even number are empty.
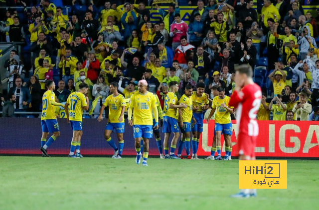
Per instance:
[[[64,105],[66,113],[66,121],[71,123],[73,138],[69,157],[83,157],[80,153],[81,138],[82,138],[82,115],[83,110],[89,110],[89,98],[85,96],[88,93],[89,85],[82,83],[79,85],[79,90],[69,95]],[[76,153],[74,154],[74,150]]]

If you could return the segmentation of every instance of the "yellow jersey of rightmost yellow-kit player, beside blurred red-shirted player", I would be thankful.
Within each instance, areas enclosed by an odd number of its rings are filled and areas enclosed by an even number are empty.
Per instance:
[[[228,97],[226,95],[223,99],[220,99],[218,96],[214,97],[213,104],[211,107],[213,109],[216,109],[215,123],[228,124],[231,122],[230,114],[229,114],[228,110],[225,107],[221,106],[221,104],[225,104],[230,109],[232,109],[233,107],[229,106],[229,100],[230,100],[230,97]]]

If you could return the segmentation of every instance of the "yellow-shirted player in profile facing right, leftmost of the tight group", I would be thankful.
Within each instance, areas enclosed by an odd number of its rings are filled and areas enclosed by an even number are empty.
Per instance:
[[[164,154],[165,159],[180,159],[175,153],[176,143],[179,138],[179,128],[177,123],[177,109],[186,108],[187,105],[181,103],[178,105],[178,99],[175,93],[178,91],[178,83],[176,81],[171,81],[168,84],[169,92],[167,92],[164,99],[164,109],[163,109],[163,133],[164,136]],[[170,144],[170,153],[168,154],[168,139],[170,133],[174,134],[173,139]]]

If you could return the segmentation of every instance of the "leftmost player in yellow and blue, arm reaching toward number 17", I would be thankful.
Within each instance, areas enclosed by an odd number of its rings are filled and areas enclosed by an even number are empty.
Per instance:
[[[42,96],[42,114],[41,114],[41,128],[42,128],[42,137],[41,137],[41,148],[42,157],[49,157],[46,152],[46,149],[50,144],[55,141],[60,136],[59,124],[55,117],[55,108],[54,106],[64,106],[63,104],[55,102],[55,84],[52,80],[47,80],[45,82],[48,90]],[[53,135],[46,141],[47,136],[50,133]]]

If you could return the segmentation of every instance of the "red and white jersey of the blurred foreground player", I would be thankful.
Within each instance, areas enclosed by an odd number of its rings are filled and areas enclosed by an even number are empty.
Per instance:
[[[261,88],[256,83],[244,86],[241,91],[234,91],[229,106],[237,108],[237,128],[239,134],[257,137],[259,134],[256,121],[261,104]]]

